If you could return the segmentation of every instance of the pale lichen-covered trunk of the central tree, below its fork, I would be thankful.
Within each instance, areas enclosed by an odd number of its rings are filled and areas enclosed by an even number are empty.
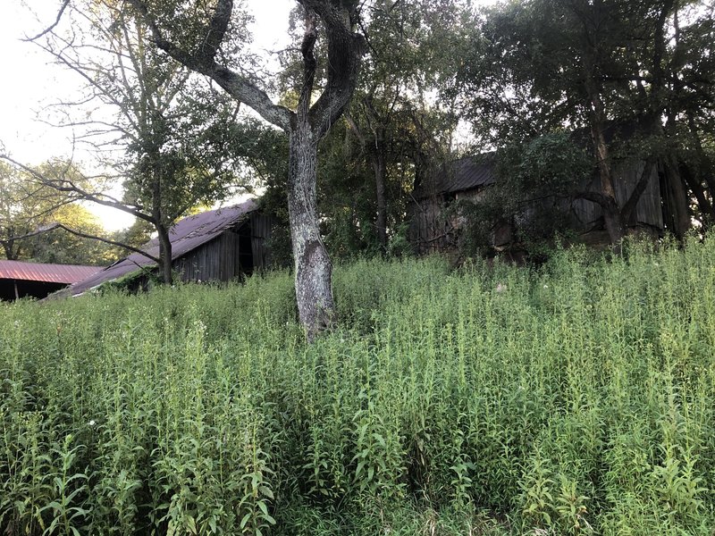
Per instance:
[[[288,211],[299,319],[311,340],[335,320],[332,264],[318,224],[316,169],[317,140],[306,121],[290,132]]]

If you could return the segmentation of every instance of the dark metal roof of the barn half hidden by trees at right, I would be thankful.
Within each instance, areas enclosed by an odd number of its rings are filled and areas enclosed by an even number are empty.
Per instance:
[[[446,170],[435,174],[429,183],[417,188],[415,197],[424,199],[436,194],[461,192],[482,188],[496,182],[495,155],[493,153],[467,156],[455,160]]]

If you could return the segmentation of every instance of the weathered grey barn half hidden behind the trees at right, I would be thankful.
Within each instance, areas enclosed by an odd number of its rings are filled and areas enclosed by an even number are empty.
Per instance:
[[[644,170],[642,161],[624,161],[614,166],[616,178],[616,196],[623,205],[633,193],[635,185]],[[499,180],[496,173],[494,154],[461,158],[450,163],[442,172],[435,174],[426,184],[420,185],[413,192],[410,210],[409,237],[416,251],[420,254],[449,251],[457,247],[458,233],[463,226],[463,218],[450,210],[458,201],[478,202],[484,198],[487,188]],[[579,191],[600,191],[598,177],[579,185]],[[543,197],[534,203],[545,203],[551,196],[544,192]],[[590,244],[605,244],[608,233],[603,228],[601,206],[583,198],[559,201],[566,203],[568,217],[563,226],[575,230],[579,238]],[[662,234],[663,214],[660,204],[660,181],[657,166],[653,167],[651,178],[644,193],[639,198],[635,211],[628,222],[629,229],[647,230]],[[514,236],[509,225],[497,226],[493,232],[492,246],[499,250],[508,247]]]

